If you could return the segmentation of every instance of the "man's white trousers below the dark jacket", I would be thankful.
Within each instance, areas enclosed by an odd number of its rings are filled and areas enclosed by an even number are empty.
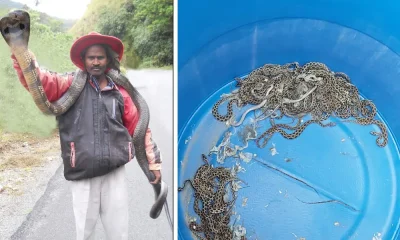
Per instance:
[[[100,177],[71,181],[76,240],[94,239],[98,216],[108,240],[128,239],[125,166]]]

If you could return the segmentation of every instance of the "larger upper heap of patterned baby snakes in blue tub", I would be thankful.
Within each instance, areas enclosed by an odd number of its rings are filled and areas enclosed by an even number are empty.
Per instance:
[[[265,64],[255,69],[243,79],[236,79],[238,91],[226,94],[218,100],[212,115],[216,120],[229,122],[234,119],[233,104],[239,108],[251,104],[259,105],[262,118],[281,119],[283,116],[297,119],[296,126],[288,124],[272,124],[271,128],[262,133],[257,139],[258,147],[268,144],[273,134],[279,133],[286,139],[300,136],[310,124],[322,127],[333,127],[336,124],[323,124],[329,117],[337,117],[342,122],[353,122],[360,125],[377,125],[380,132],[371,131],[376,136],[376,144],[385,147],[388,143],[388,132],[385,125],[374,119],[375,104],[370,100],[361,99],[358,89],[351,83],[350,78],[343,72],[333,72],[325,64],[309,62],[304,66],[293,62],[284,65]],[[220,106],[228,101],[226,114],[221,114]],[[252,110],[255,110],[254,108]],[[311,120],[299,124],[304,116]],[[349,118],[353,117],[353,120]],[[258,120],[260,120],[258,119]],[[243,117],[242,120],[243,121]],[[238,126],[238,123],[232,123]],[[294,132],[288,133],[286,130]]]

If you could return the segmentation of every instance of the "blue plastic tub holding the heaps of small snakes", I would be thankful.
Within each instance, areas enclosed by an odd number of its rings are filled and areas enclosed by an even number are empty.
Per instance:
[[[369,134],[375,127],[348,123],[309,126],[295,140],[276,135],[274,145],[264,149],[249,145],[246,151],[321,194],[250,161],[240,175],[249,185],[239,191],[240,223],[248,239],[398,239],[398,12],[395,1],[179,1],[179,186],[228,130],[211,108],[233,88],[235,77],[266,63],[322,62],[349,75],[361,95],[375,103],[389,130],[388,145],[376,146]],[[271,154],[272,147],[278,154]],[[217,165],[215,155],[212,159]],[[232,164],[227,160],[226,166]],[[181,240],[195,239],[187,227],[195,216],[190,193],[178,193]],[[296,197],[339,199],[357,211],[337,203],[305,204]]]

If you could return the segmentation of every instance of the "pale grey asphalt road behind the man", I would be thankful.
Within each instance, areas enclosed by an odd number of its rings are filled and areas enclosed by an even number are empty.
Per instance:
[[[150,108],[150,128],[163,157],[162,176],[169,186],[168,205],[173,214],[173,75],[171,70],[128,71],[128,77],[146,99]],[[60,159],[61,162],[61,159]],[[136,161],[126,165],[129,186],[129,239],[169,240],[173,233],[165,210],[158,219],[149,211],[154,202],[153,188]],[[69,183],[63,166],[50,179],[44,195],[27,220],[11,239],[74,240],[75,221]],[[173,220],[173,218],[172,218]],[[101,220],[96,226],[97,240],[106,239]]]

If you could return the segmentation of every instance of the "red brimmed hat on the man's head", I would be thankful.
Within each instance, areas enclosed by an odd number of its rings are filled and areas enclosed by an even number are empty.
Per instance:
[[[72,62],[80,69],[85,70],[85,64],[81,59],[81,52],[87,47],[94,44],[107,44],[119,55],[121,61],[124,54],[124,44],[116,37],[102,35],[97,32],[90,32],[89,34],[78,38],[71,47],[70,57]]]

